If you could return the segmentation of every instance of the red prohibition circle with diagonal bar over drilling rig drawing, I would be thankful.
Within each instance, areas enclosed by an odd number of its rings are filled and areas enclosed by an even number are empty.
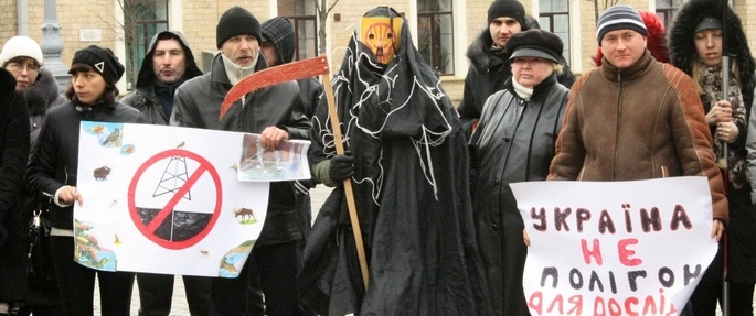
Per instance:
[[[147,168],[149,168],[150,166],[152,166],[161,160],[171,159],[173,156],[182,156],[194,160],[200,163],[200,166],[196,171],[194,171],[194,173],[192,173],[189,176],[184,185],[175,192],[175,194],[173,195],[173,197],[171,197],[168,204],[164,207],[162,207],[162,209],[160,209],[160,211],[152,218],[152,220],[150,220],[146,225],[142,222],[136,206],[137,184],[139,183],[139,179],[145,174],[145,171]],[[215,184],[215,207],[213,209],[213,214],[207,225],[199,233],[190,237],[189,239],[171,241],[159,237],[156,233],[156,230],[160,227],[161,224],[166,221],[166,219],[170,217],[170,215],[174,210],[173,208],[175,207],[175,205],[179,204],[181,198],[198,182],[198,179],[200,179],[200,177],[204,175],[205,172],[210,174],[210,176],[213,179],[213,183]],[[149,240],[152,240],[153,242],[168,249],[185,249],[200,242],[200,240],[204,239],[207,236],[207,233],[210,233],[210,231],[212,230],[213,226],[217,221],[219,216],[221,215],[221,204],[223,196],[222,194],[223,189],[221,187],[221,177],[219,176],[215,167],[213,167],[213,165],[207,160],[193,152],[182,149],[167,150],[164,152],[157,153],[152,157],[148,159],[141,166],[139,166],[139,168],[135,173],[134,178],[131,179],[131,184],[129,185],[128,192],[129,214],[131,215],[131,220],[137,226],[137,229],[139,229],[139,231],[141,231],[141,233],[145,235],[145,237],[147,237]]]

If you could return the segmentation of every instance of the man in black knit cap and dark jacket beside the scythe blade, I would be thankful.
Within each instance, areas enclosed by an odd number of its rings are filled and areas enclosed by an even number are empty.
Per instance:
[[[268,86],[244,96],[219,120],[221,103],[242,78],[268,67],[260,57],[260,24],[244,8],[225,11],[216,28],[221,51],[210,73],[190,79],[175,92],[170,124],[257,133],[262,145],[273,150],[281,141],[309,139],[296,81]],[[297,283],[297,243],[302,238],[291,182],[270,183],[265,227],[236,279],[211,282],[213,315],[301,315]],[[248,283],[259,288],[248,288]],[[265,310],[247,310],[247,292],[265,295]]]

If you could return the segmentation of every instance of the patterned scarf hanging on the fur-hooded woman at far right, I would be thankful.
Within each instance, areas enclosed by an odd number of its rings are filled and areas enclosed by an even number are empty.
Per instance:
[[[710,67],[701,63],[701,61],[695,61],[695,63],[699,64],[698,67],[694,67],[698,68],[699,72],[696,74],[696,77],[699,78],[698,84],[703,89],[701,102],[703,103],[704,111],[709,113],[709,111],[712,109],[712,106],[716,101],[724,99],[722,96],[722,66],[720,65]],[[727,101],[730,101],[733,107],[733,122],[738,126],[746,126],[746,109],[743,106],[741,81],[732,70],[730,72],[730,91],[727,91]],[[741,133],[744,132],[746,131],[741,131]],[[725,142],[718,140],[714,133],[713,137],[714,153],[718,157],[716,164],[720,166],[720,168],[727,168],[730,183],[732,183],[734,188],[737,189],[743,187],[743,184],[748,181],[746,173],[748,170],[748,163],[744,153],[742,151],[738,153],[734,146],[728,145],[727,161],[725,161]]]

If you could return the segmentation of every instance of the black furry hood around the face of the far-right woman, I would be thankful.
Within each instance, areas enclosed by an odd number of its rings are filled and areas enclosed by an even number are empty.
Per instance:
[[[686,1],[674,15],[674,21],[668,33],[670,63],[685,74],[692,74],[693,61],[699,57],[695,52],[695,26],[704,17],[722,20],[722,1],[690,0]],[[714,12],[714,14],[712,14]],[[748,50],[748,39],[743,30],[741,18],[727,6],[727,19],[720,21],[726,28],[726,51],[734,55],[732,62],[737,63],[741,80],[746,80],[754,74],[754,57]],[[731,63],[732,63],[731,62]]]

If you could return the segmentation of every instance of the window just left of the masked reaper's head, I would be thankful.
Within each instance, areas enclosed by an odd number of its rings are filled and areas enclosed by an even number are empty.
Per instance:
[[[279,0],[278,15],[291,19],[296,33],[294,61],[318,55],[318,22],[310,0]]]

